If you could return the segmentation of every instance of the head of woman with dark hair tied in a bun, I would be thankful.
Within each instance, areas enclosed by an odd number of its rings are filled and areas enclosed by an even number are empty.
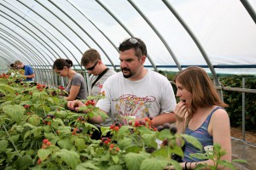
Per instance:
[[[61,77],[67,77],[72,66],[73,62],[70,59],[56,59],[52,68]]]

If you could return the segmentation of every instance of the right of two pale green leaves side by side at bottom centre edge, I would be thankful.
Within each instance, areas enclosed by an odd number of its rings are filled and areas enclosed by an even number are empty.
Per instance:
[[[143,160],[140,170],[163,170],[169,162],[164,159],[148,158]]]

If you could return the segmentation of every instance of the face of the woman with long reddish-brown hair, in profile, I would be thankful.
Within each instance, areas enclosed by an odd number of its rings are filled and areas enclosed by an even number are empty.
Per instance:
[[[185,103],[186,107],[190,107],[192,102],[192,94],[186,88],[184,88],[183,85],[178,81],[176,81],[176,87],[176,96],[179,97],[179,99]]]

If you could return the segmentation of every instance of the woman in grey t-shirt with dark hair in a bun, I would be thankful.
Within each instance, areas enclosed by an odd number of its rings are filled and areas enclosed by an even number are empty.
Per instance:
[[[84,77],[73,71],[71,68],[73,62],[70,59],[56,59],[53,65],[54,71],[61,77],[68,77],[68,84],[66,91],[68,96],[65,98],[67,101],[74,99],[86,99],[86,86]]]

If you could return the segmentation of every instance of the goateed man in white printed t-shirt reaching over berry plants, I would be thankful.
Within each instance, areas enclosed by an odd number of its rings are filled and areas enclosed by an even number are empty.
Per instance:
[[[90,121],[101,126],[110,126],[115,121],[125,122],[125,117],[153,117],[153,126],[166,122],[176,122],[173,111],[177,105],[171,83],[166,77],[146,69],[143,65],[147,59],[145,43],[137,38],[125,39],[119,45],[121,71],[108,77],[102,87],[105,99],[99,99],[96,107],[108,114],[106,121],[101,116]],[[78,110],[84,105],[79,101],[68,102],[70,109]]]

